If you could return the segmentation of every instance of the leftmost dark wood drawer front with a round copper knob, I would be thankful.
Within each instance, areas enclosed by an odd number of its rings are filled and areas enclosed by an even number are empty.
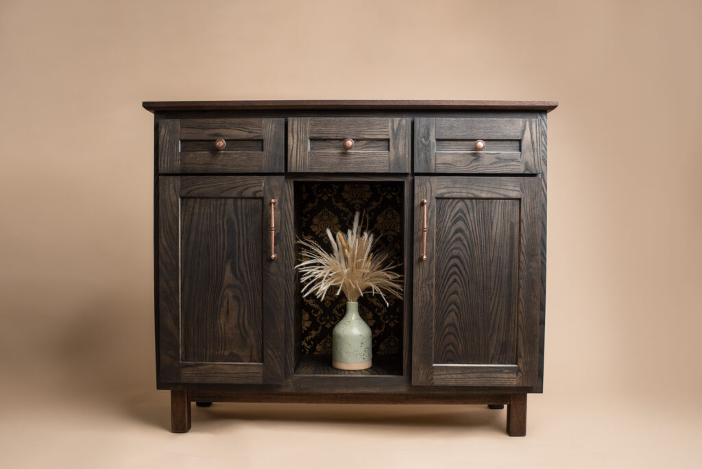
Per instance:
[[[282,173],[285,119],[164,119],[161,173]]]

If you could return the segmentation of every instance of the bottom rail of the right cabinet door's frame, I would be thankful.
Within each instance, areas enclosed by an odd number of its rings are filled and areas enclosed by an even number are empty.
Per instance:
[[[514,386],[517,365],[434,365],[434,384],[449,386]]]

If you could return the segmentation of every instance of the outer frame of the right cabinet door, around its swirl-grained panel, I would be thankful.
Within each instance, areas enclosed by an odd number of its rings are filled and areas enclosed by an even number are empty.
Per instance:
[[[465,177],[417,176],[415,178],[415,256],[413,283],[413,385],[464,385],[528,388],[540,392],[543,376],[543,265],[545,193],[541,176]],[[516,272],[515,360],[513,363],[435,363],[437,318],[437,203],[442,199],[516,200],[519,230]],[[423,252],[424,206],[427,200],[426,260]],[[484,227],[475,227],[481,230]],[[484,275],[484,274],[483,274]],[[442,312],[444,313],[444,312]],[[437,335],[435,335],[437,334]],[[461,340],[459,338],[459,340]],[[464,338],[465,340],[465,338]],[[470,345],[465,345],[470,346]]]

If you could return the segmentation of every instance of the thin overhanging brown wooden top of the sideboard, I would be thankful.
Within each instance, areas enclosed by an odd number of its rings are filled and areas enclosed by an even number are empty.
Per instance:
[[[523,110],[551,111],[557,101],[473,100],[277,100],[277,101],[145,101],[156,111],[237,110]]]

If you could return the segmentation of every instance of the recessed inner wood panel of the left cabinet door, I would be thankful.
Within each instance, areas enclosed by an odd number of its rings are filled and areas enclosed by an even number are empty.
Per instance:
[[[262,362],[261,199],[183,198],[183,361]]]

